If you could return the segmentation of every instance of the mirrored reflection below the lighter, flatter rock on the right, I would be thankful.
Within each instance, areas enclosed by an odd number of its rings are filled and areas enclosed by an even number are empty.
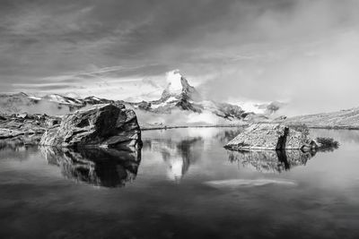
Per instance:
[[[314,155],[314,151],[303,152],[295,149],[229,151],[231,162],[241,163],[241,166],[253,168],[262,173],[281,173],[293,166],[305,165]]]

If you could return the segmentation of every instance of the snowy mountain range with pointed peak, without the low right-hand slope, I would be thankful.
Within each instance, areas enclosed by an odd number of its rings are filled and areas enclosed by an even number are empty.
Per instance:
[[[0,113],[11,115],[15,113],[65,115],[71,111],[96,104],[124,104],[136,112],[147,112],[155,115],[171,115],[174,111],[188,112],[188,114],[206,114],[223,119],[226,122],[238,120],[261,121],[267,120],[282,107],[282,103],[273,102],[258,105],[265,114],[246,112],[240,106],[216,102],[203,98],[200,93],[188,83],[188,80],[175,70],[167,74],[167,87],[162,91],[161,98],[150,101],[128,102],[97,97],[68,97],[59,94],[48,94],[42,97],[31,96],[26,93],[0,95]]]

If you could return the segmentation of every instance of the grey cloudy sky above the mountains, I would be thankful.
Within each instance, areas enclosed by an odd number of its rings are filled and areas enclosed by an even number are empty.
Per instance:
[[[180,69],[208,98],[282,100],[301,113],[359,107],[358,9],[356,0],[0,0],[0,91],[125,98],[128,82],[161,85]]]

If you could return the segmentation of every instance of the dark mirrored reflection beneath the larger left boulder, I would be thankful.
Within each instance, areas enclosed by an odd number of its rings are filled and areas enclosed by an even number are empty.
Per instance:
[[[105,187],[121,187],[136,178],[141,151],[117,149],[56,149],[41,147],[49,164],[66,178]]]

